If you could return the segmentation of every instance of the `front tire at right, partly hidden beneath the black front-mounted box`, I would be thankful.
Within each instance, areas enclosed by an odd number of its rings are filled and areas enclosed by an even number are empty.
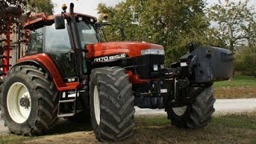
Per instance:
[[[214,114],[214,90],[212,86],[201,90],[197,93],[194,101],[188,106],[173,107],[171,102],[166,107],[168,118],[172,125],[178,128],[199,128],[206,126],[211,120],[211,115]]]

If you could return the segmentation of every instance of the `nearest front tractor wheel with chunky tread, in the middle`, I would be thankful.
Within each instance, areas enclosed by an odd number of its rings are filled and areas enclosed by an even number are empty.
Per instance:
[[[133,135],[134,95],[128,74],[120,67],[102,67],[90,75],[90,114],[99,141],[120,141]]]

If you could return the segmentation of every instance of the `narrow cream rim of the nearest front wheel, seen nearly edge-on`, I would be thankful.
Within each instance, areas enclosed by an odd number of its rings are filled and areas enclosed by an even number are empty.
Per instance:
[[[101,122],[101,109],[98,96],[98,87],[94,86],[94,114],[97,124]]]

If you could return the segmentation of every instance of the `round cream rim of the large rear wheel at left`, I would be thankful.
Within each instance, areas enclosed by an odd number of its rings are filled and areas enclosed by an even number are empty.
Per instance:
[[[26,122],[31,112],[31,98],[29,90],[21,82],[15,82],[7,93],[7,110],[10,118],[17,123]]]

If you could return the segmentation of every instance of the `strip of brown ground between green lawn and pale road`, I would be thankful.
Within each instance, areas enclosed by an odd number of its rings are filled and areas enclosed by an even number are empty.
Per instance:
[[[256,98],[256,86],[227,86],[215,88],[214,97],[217,99]]]

